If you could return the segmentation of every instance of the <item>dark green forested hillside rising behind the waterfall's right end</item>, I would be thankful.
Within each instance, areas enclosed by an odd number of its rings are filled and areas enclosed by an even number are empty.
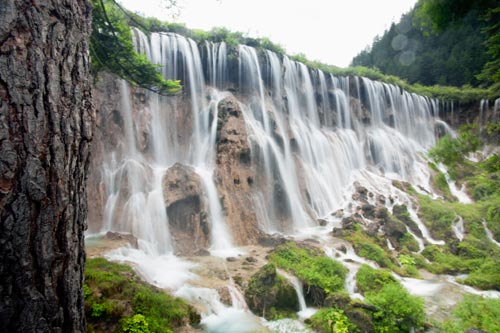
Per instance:
[[[375,67],[424,85],[491,84],[493,73],[480,73],[487,63],[497,62],[496,6],[494,1],[421,0],[352,65]]]

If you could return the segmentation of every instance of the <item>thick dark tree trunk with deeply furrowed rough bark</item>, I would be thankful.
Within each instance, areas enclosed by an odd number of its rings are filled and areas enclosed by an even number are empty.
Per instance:
[[[84,331],[85,0],[0,4],[0,331]]]

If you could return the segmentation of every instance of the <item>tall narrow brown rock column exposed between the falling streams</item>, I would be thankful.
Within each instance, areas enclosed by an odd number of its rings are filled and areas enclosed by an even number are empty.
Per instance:
[[[230,96],[219,103],[215,182],[226,222],[238,244],[255,243],[259,236],[252,208],[255,169],[238,101]]]

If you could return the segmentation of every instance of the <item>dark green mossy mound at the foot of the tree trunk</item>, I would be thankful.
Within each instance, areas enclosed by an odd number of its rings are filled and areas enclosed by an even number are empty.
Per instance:
[[[200,321],[183,300],[141,281],[130,267],[104,258],[87,260],[84,296],[91,332],[118,332],[125,323],[133,323],[131,318],[138,320],[137,325],[145,323],[149,332],[167,332]]]

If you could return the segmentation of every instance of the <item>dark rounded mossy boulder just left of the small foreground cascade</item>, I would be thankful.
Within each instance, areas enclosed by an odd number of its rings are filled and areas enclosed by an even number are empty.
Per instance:
[[[245,300],[253,313],[271,320],[293,316],[299,310],[295,289],[277,274],[273,264],[263,266],[252,275]]]

